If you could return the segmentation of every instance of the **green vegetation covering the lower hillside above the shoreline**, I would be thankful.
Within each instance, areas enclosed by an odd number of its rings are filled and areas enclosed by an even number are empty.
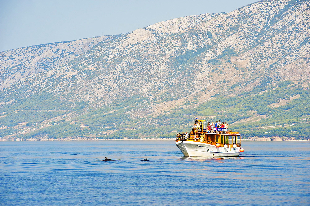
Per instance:
[[[268,83],[264,87],[268,88],[270,85]],[[75,107],[71,107],[70,104],[64,105],[64,108],[70,108],[70,110],[41,110],[43,108],[55,108],[55,105],[61,107],[61,104],[55,101],[53,95],[48,96],[50,98],[45,97],[44,101],[47,101],[45,104],[42,104],[42,97],[34,96],[29,97],[22,104],[19,102],[19,104],[14,103],[14,107],[11,105],[11,108],[16,110],[0,118],[1,124],[10,128],[0,130],[0,135],[3,137],[14,134],[20,127],[13,128],[14,126],[16,127],[21,122],[28,122],[27,127],[32,126],[36,130],[18,135],[18,137],[25,139],[40,135],[48,135],[50,138],[68,136],[97,138],[174,137],[176,132],[190,131],[193,119],[206,113],[207,121],[209,116],[215,116],[212,120],[227,121],[230,124],[257,116],[255,121],[230,125],[232,130],[240,131],[245,138],[250,136],[287,136],[307,139],[309,137],[310,127],[308,124],[299,123],[301,118],[310,116],[309,91],[303,90],[301,86],[290,81],[279,82],[276,88],[260,93],[256,93],[257,88],[262,87],[256,87],[250,92],[243,92],[240,96],[227,97],[222,95],[197,107],[191,107],[191,103],[187,102],[170,111],[169,114],[155,118],[131,115],[135,109],[141,109],[141,107],[147,109],[147,104],[150,103],[148,98],[136,96],[95,110],[88,108],[90,112],[81,113],[71,118],[70,121],[55,120],[49,122],[49,125],[43,125],[43,127],[39,127],[38,124],[44,120],[66,115],[69,112],[81,112],[82,110],[78,103],[74,104]],[[287,101],[287,103],[278,107],[272,106],[281,100]],[[53,101],[53,103],[49,101]],[[38,110],[22,110],[26,105]],[[4,108],[9,108],[9,105]],[[263,118],[259,118],[262,116]],[[277,127],[270,127],[272,125]]]

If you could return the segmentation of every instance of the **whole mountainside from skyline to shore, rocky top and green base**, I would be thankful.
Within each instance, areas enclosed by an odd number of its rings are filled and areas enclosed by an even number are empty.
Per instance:
[[[0,135],[167,137],[206,113],[247,137],[308,138],[309,8],[263,0],[1,52]]]

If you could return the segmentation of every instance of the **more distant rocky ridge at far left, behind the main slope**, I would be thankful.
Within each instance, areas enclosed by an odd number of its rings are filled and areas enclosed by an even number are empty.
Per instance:
[[[20,79],[35,75],[72,60],[95,45],[115,36],[100,36],[87,39],[35,45],[0,53],[0,90]]]

